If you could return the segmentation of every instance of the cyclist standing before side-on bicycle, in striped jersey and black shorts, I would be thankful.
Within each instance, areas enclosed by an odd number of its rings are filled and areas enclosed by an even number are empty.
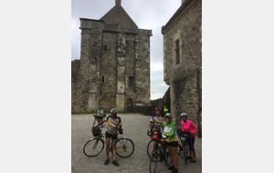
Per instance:
[[[107,159],[105,160],[104,165],[107,165],[110,162],[109,154],[110,154],[110,144],[112,145],[112,156],[113,161],[112,164],[115,166],[119,166],[118,162],[116,161],[116,142],[117,142],[117,131],[121,129],[121,117],[117,117],[118,110],[117,108],[111,109],[111,115],[107,117],[105,120],[108,122],[106,135],[106,155]],[[98,125],[102,124],[104,121],[101,121]],[[110,141],[111,140],[111,141]]]

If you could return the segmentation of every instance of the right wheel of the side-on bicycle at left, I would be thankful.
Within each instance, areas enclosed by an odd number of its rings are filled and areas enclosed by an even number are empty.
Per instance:
[[[134,151],[134,143],[129,138],[119,138],[116,143],[116,154],[121,158],[129,158]]]

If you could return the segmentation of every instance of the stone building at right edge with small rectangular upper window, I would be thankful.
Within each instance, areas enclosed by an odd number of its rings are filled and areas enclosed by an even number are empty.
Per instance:
[[[182,0],[162,34],[163,80],[170,86],[171,113],[177,127],[180,114],[187,113],[202,137],[202,0]]]

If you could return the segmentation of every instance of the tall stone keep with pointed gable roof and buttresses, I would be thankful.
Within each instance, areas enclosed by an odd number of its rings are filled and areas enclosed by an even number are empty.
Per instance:
[[[80,18],[80,60],[71,62],[71,112],[132,112],[150,104],[150,36],[115,0],[100,20]]]

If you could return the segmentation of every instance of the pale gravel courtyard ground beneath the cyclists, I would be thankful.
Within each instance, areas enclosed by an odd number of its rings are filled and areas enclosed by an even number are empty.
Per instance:
[[[108,115],[107,115],[108,116]],[[134,152],[130,158],[120,158],[116,155],[119,167],[112,165],[110,153],[110,163],[104,165],[106,159],[105,148],[97,157],[89,158],[83,153],[83,147],[90,138],[91,126],[94,120],[92,115],[72,115],[71,116],[71,172],[72,173],[116,173],[116,172],[149,172],[150,159],[147,156],[147,144],[151,140],[146,135],[149,129],[151,117],[139,114],[118,114],[121,117],[123,134],[119,135],[130,137],[134,142]],[[105,132],[106,127],[102,128]],[[178,156],[178,172],[202,172],[202,138],[195,137],[196,163],[184,164],[182,155]],[[157,173],[171,172],[164,162],[159,162],[156,168]]]

